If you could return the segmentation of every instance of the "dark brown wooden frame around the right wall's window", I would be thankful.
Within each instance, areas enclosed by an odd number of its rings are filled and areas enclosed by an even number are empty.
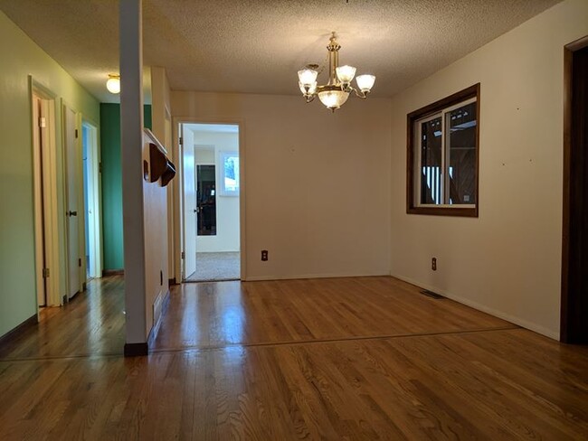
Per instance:
[[[460,90],[447,98],[440,99],[434,103],[414,110],[406,116],[406,212],[408,214],[428,214],[434,216],[460,216],[477,218],[479,215],[479,83],[470,86],[467,89]],[[417,190],[414,184],[414,144],[415,127],[414,123],[424,117],[441,112],[445,108],[450,108],[460,104],[468,99],[476,99],[476,203],[473,207],[463,207],[456,205],[417,205],[415,203],[414,192]],[[444,135],[443,135],[444,136]]]

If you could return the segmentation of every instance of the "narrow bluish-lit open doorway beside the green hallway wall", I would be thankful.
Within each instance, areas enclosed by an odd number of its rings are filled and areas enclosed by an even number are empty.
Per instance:
[[[100,253],[100,152],[98,129],[87,121],[81,124],[81,151],[84,187],[84,230],[86,278],[101,277]]]

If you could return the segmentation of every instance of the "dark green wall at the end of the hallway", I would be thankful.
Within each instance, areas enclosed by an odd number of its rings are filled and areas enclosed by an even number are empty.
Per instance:
[[[151,106],[143,108],[144,125],[151,129]],[[120,105],[100,104],[100,155],[102,162],[103,267],[125,266],[122,236],[122,161],[120,157]]]

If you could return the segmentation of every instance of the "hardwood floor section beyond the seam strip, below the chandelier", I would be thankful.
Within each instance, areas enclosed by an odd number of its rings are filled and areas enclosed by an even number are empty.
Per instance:
[[[154,349],[516,327],[419,291],[393,277],[185,284],[173,294]]]

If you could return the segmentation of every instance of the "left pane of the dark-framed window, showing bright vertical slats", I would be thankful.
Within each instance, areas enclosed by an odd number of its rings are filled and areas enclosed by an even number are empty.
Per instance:
[[[439,204],[441,200],[441,117],[421,123],[420,203]]]

